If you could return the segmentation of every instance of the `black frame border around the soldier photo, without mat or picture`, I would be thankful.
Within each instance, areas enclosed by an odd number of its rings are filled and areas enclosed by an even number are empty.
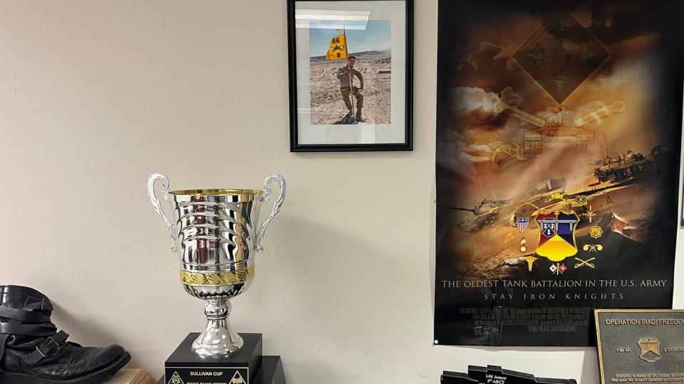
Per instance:
[[[290,151],[291,152],[339,152],[339,151],[413,151],[413,0],[406,3],[406,77],[405,77],[405,123],[403,143],[383,144],[300,144],[297,121],[297,75],[295,3],[320,0],[287,0],[287,36],[289,69]],[[330,2],[344,0],[325,0]],[[367,0],[346,0],[367,1]],[[390,0],[375,0],[390,1]]]

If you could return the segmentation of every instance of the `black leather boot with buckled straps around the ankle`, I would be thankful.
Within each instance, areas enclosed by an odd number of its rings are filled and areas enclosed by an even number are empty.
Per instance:
[[[0,285],[0,383],[96,384],[130,360],[121,346],[66,341],[51,314],[50,300],[36,289]]]

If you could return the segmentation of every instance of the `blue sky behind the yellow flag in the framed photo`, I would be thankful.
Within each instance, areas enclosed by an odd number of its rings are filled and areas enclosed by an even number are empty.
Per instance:
[[[365,50],[388,50],[392,43],[392,28],[389,20],[371,20],[366,29],[348,29],[347,49],[349,53]],[[330,39],[341,35],[341,29],[309,28],[309,56],[323,56],[330,47]]]

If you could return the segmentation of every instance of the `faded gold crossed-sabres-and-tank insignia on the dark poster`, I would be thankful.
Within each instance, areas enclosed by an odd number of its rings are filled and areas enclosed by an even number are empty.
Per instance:
[[[562,107],[556,109],[556,113],[551,117],[543,119],[504,102],[497,102],[494,105],[494,112],[507,114],[532,124],[533,127],[524,132],[522,146],[517,143],[506,143],[495,149],[492,152],[489,169],[492,172],[500,172],[519,161],[537,157],[544,146],[575,146],[577,149],[587,149],[594,142],[594,131],[583,127],[603,117],[624,111],[625,103],[617,100],[575,119],[567,116]]]

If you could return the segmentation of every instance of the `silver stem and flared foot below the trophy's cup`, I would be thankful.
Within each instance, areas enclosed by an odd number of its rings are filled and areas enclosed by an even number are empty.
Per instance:
[[[219,356],[235,352],[242,347],[243,341],[235,333],[228,321],[232,305],[227,298],[207,299],[204,314],[207,315],[207,328],[192,343],[192,351],[200,356]]]

